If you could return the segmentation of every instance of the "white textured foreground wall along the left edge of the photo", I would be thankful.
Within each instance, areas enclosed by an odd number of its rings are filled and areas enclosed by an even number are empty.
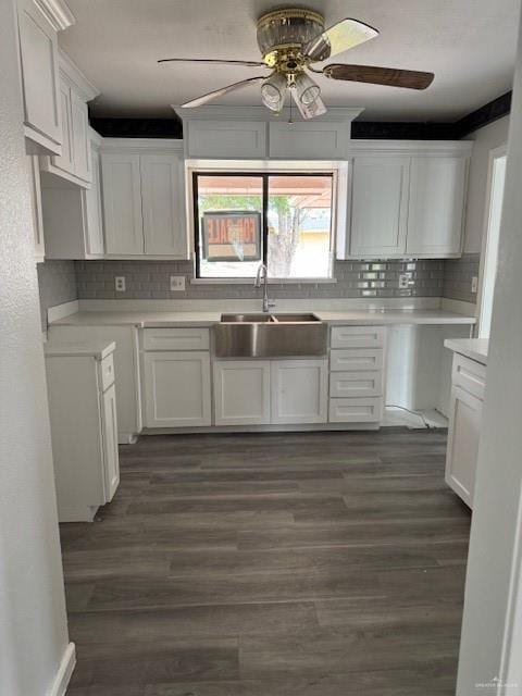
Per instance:
[[[0,694],[44,696],[69,638],[9,0],[0,85]]]

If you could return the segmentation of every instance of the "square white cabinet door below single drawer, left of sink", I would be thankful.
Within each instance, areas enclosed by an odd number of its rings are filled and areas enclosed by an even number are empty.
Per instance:
[[[210,425],[208,352],[146,352],[144,361],[147,427]]]

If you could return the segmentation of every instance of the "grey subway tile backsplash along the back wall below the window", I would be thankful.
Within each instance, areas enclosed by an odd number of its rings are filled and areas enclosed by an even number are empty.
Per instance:
[[[190,284],[189,261],[76,261],[80,299],[237,299],[259,297],[251,284]],[[410,275],[410,287],[399,290],[399,273]],[[125,276],[125,293],[114,290],[114,276]],[[170,276],[185,275],[186,290],[171,293]],[[444,261],[338,261],[337,283],[274,284],[274,298],[307,297],[438,297],[443,294]]]

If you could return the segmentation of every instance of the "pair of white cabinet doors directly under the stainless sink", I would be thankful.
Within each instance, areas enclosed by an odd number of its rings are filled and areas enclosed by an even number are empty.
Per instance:
[[[216,360],[215,425],[325,423],[326,359]]]

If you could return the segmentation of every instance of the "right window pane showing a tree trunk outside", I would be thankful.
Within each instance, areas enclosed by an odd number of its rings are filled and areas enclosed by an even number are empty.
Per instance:
[[[270,176],[270,277],[331,276],[332,188],[324,174]]]

